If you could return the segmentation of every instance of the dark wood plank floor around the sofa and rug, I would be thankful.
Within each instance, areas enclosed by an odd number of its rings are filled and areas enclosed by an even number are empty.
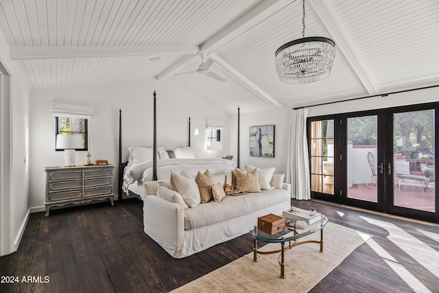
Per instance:
[[[360,216],[390,222],[436,252],[439,252],[438,241],[418,229],[438,235],[438,226],[322,202],[293,200],[292,204],[306,209],[316,208],[331,222],[373,235],[374,241],[400,266],[431,292],[439,292],[437,274],[395,246],[384,229],[369,224]],[[60,209],[51,211],[49,217],[44,213],[33,213],[19,250],[0,257],[0,276],[19,277],[19,282],[0,283],[0,291],[169,292],[250,253],[252,243],[250,235],[243,235],[185,259],[174,259],[143,233],[139,200],[125,200],[114,207],[102,203]],[[438,259],[431,261],[437,263]],[[414,291],[403,276],[390,269],[383,257],[379,257],[368,244],[362,244],[311,292]]]

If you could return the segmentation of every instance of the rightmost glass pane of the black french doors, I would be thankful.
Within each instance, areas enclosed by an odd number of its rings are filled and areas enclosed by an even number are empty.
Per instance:
[[[434,110],[394,114],[394,205],[435,212]]]

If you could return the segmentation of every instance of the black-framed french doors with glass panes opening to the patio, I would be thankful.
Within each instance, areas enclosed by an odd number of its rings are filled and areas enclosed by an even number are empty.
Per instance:
[[[311,197],[439,222],[438,104],[309,118]]]

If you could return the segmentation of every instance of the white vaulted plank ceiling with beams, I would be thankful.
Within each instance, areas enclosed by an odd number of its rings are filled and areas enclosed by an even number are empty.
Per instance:
[[[306,106],[439,84],[439,1],[307,0],[305,36],[336,44],[329,78],[278,80],[300,0],[0,0],[0,30],[34,89],[154,77],[224,108]],[[191,73],[206,58],[225,82]]]

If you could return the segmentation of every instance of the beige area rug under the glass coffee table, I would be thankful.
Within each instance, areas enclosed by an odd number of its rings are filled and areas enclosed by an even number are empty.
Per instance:
[[[296,246],[285,253],[285,279],[280,278],[279,253],[258,255],[257,262],[253,261],[253,253],[249,253],[172,292],[308,292],[369,238],[351,228],[328,223],[324,227],[323,253],[320,253],[320,245],[313,243]],[[320,232],[301,241],[311,239],[319,240]],[[281,244],[271,243],[261,250],[280,247]]]

